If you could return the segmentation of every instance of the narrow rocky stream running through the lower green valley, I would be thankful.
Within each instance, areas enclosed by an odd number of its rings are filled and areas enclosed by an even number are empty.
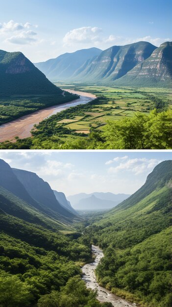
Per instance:
[[[92,263],[87,263],[82,267],[83,277],[86,282],[87,288],[98,290],[98,301],[110,302],[114,307],[134,307],[138,306],[135,303],[129,303],[126,300],[112,294],[109,290],[100,287],[95,275],[95,269],[98,266],[100,259],[104,256],[102,250],[98,246],[92,245],[92,251],[96,255],[96,259]]]

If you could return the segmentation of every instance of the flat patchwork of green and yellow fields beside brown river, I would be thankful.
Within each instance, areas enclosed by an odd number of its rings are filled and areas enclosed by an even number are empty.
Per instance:
[[[65,128],[77,133],[89,133],[90,128],[102,130],[108,120],[121,120],[133,117],[137,111],[148,113],[155,107],[155,101],[164,103],[164,108],[172,108],[172,93],[170,89],[162,88],[112,88],[105,86],[85,86],[75,83],[56,83],[62,89],[73,89],[95,94],[98,102],[85,111],[83,116],[73,119],[64,118],[57,122]],[[155,101],[154,101],[155,100]]]

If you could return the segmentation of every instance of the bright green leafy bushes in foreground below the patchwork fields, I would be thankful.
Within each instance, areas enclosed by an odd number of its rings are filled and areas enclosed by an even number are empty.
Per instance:
[[[172,148],[172,112],[149,115],[136,113],[133,118],[108,121],[104,128],[105,144],[109,149],[170,149]]]

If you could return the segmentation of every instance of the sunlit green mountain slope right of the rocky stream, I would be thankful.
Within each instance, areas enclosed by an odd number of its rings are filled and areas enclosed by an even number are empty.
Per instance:
[[[105,251],[99,282],[128,300],[170,307],[172,160],[161,162],[146,183],[101,216],[86,232]]]

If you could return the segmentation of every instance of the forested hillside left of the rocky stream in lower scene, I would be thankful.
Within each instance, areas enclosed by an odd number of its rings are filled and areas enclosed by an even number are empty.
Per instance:
[[[92,258],[89,237],[65,216],[50,217],[25,187],[0,160],[0,306],[111,307],[81,280],[80,265]]]

